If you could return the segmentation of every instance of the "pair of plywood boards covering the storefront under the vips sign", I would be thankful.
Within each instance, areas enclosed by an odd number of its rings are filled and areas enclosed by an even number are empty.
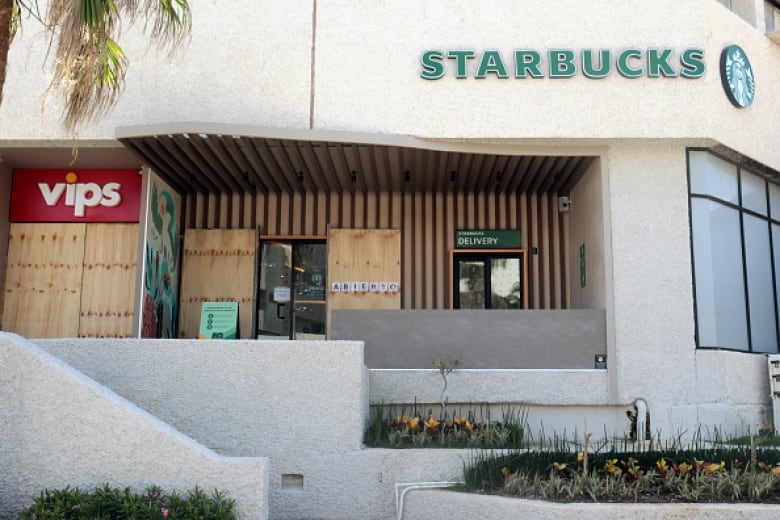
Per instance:
[[[11,224],[3,328],[132,337],[137,244],[138,224]]]

